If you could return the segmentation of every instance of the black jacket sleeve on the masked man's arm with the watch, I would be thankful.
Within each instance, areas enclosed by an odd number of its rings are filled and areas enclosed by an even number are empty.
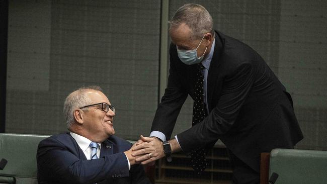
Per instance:
[[[185,152],[216,141],[233,125],[253,85],[253,68],[241,63],[226,77],[217,106],[199,124],[177,135]]]

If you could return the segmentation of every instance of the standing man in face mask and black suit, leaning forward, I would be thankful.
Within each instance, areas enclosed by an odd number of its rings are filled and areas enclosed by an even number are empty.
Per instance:
[[[248,45],[213,30],[201,5],[182,6],[169,22],[170,74],[151,127],[134,147],[146,164],[172,152],[191,153],[196,173],[205,150],[220,139],[227,147],[233,183],[259,183],[260,154],[294,148],[303,138],[291,96]],[[171,138],[187,96],[194,100],[192,128]],[[167,141],[169,140],[169,141]]]

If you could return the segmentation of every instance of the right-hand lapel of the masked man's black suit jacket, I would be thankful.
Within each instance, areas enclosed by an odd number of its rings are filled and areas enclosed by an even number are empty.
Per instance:
[[[211,103],[212,98],[213,98],[213,93],[214,93],[214,89],[215,89],[215,85],[217,83],[217,79],[219,76],[219,72],[218,72],[218,67],[220,65],[220,56],[223,50],[223,41],[219,35],[218,32],[215,32],[215,48],[214,48],[214,52],[213,52],[213,56],[211,59],[211,63],[210,63],[210,68],[209,68],[209,72],[208,72],[208,79],[207,79],[207,95],[208,95],[208,107],[209,107],[209,111],[211,111]]]

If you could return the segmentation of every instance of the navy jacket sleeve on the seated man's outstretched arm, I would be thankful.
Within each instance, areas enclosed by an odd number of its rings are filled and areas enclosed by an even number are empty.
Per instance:
[[[73,152],[72,148],[54,138],[41,141],[37,150],[38,179],[42,177],[60,183],[96,183],[115,174],[129,176],[123,152],[94,160],[81,160]]]

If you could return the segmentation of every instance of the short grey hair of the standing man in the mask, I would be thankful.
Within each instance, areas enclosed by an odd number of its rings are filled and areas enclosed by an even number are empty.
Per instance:
[[[204,34],[214,34],[213,21],[209,12],[197,4],[185,4],[179,8],[172,19],[168,21],[169,30],[185,23],[192,31],[192,36],[201,39]]]

